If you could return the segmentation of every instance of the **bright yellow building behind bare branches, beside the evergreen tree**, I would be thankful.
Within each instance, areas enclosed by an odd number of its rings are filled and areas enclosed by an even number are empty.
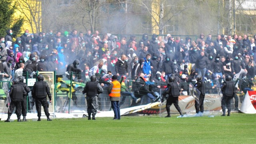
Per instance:
[[[24,18],[21,33],[26,29],[30,33],[39,33],[42,31],[41,23],[41,0],[13,0],[16,2],[17,10],[14,14],[14,19]]]

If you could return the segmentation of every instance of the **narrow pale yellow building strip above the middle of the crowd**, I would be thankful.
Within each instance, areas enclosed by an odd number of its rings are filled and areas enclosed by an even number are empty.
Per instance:
[[[151,3],[151,21],[152,21],[152,34],[159,35],[159,14],[160,14],[160,0],[152,0]]]

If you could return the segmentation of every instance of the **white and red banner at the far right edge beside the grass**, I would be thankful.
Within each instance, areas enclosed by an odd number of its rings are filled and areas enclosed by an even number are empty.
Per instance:
[[[248,114],[256,113],[256,91],[247,91],[240,111]]]

